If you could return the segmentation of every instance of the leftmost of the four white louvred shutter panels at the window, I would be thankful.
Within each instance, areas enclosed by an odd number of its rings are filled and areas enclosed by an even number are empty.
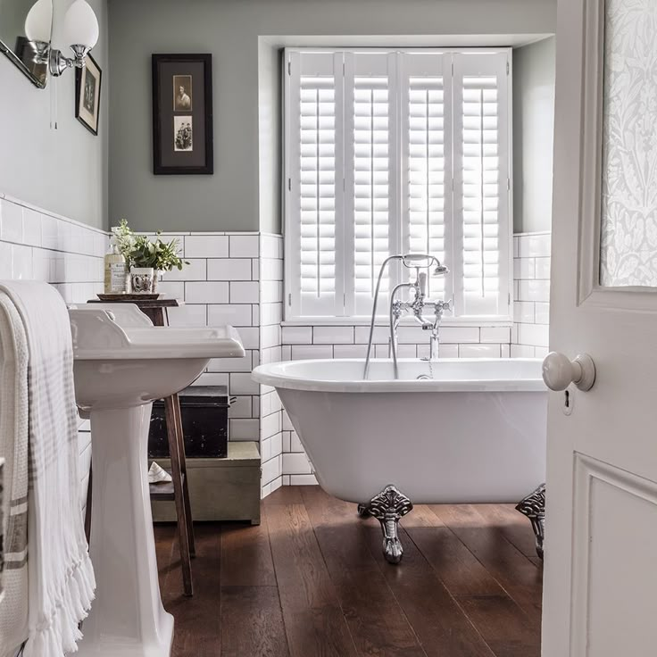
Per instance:
[[[295,314],[342,314],[343,225],[342,55],[295,53],[290,58],[288,115],[290,222],[294,244]],[[292,77],[292,76],[290,76]]]

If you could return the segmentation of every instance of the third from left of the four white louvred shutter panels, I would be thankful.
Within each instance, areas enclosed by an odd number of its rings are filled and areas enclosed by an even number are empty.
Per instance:
[[[403,250],[452,269],[451,58],[405,54],[402,67]],[[429,297],[451,298],[452,277],[429,277]]]

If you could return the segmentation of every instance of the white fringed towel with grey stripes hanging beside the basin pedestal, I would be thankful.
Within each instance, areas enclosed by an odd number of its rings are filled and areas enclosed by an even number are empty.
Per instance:
[[[0,292],[18,309],[29,353],[29,634],[24,657],[63,657],[77,650],[79,622],[96,589],[79,509],[71,328],[62,297],[46,283],[8,281],[0,283]]]

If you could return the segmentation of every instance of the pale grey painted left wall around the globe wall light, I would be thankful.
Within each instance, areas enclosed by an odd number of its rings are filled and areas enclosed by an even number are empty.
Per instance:
[[[69,47],[62,42],[62,21],[70,4],[70,0],[54,0],[53,43],[66,51]],[[93,55],[105,73],[100,134],[95,137],[75,118],[73,71],[66,71],[55,81],[59,129],[53,130],[50,88],[37,89],[0,55],[0,191],[49,212],[104,228],[108,179],[107,0],[89,0],[89,4],[100,24],[100,39]]]

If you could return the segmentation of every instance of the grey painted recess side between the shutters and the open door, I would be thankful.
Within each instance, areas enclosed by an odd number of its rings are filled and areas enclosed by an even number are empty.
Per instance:
[[[513,229],[552,227],[555,38],[513,51]]]

